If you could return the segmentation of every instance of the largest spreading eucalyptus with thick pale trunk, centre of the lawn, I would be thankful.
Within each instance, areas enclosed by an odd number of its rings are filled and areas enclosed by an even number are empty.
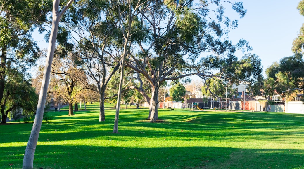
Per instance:
[[[143,25],[145,36],[136,41],[138,52],[130,52],[131,58],[126,66],[142,74],[145,79],[141,81],[148,81],[151,85],[150,122],[158,118],[158,93],[164,81],[191,75],[203,79],[214,77],[216,75],[210,70],[221,68],[216,63],[229,60],[237,49],[248,45],[245,40],[236,45],[223,40],[225,30],[230,24],[237,27],[237,21],[224,16],[222,3],[230,4],[242,18],[246,10],[241,2],[193,3],[192,0],[180,1],[179,5],[173,0],[153,1],[140,13],[142,21],[139,23]],[[209,12],[215,15],[209,15]],[[214,52],[216,56],[199,60],[202,52]],[[220,58],[222,55],[228,59]]]

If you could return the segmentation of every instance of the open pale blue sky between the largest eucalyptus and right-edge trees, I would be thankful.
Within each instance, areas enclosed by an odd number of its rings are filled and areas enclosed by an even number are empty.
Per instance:
[[[238,19],[238,28],[231,30],[234,43],[243,38],[257,54],[264,70],[274,61],[293,55],[292,41],[297,37],[304,17],[299,14],[300,0],[240,0],[247,13]],[[233,1],[234,2],[234,1]],[[227,14],[228,15],[228,14]],[[241,55],[237,55],[241,58]]]

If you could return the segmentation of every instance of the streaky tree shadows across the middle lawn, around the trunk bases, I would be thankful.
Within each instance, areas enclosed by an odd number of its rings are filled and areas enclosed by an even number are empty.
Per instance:
[[[235,141],[241,137],[263,139],[267,136],[267,140],[271,140],[281,139],[282,135],[294,138],[296,135],[304,134],[304,124],[302,123],[304,115],[250,114],[246,112],[160,114],[160,117],[165,119],[164,123],[149,123],[145,120],[146,112],[136,111],[138,110],[120,113],[118,126],[120,134],[117,134],[117,140],[132,140],[132,136],[142,138],[170,136],[173,140],[217,141]],[[52,138],[58,140],[94,139],[100,138],[101,135],[113,135],[114,114],[106,113],[106,121],[103,122],[98,121],[97,115],[98,113],[82,112],[71,117],[55,117],[53,121],[43,123],[39,140],[45,141]],[[178,119],[188,119],[188,122],[181,122]],[[24,132],[20,131],[19,128],[3,126],[10,132],[5,135],[6,139],[2,139],[0,142],[27,141],[32,124],[21,125]],[[141,134],[138,135],[138,133]],[[18,140],[15,138],[16,135],[18,135]],[[246,141],[246,139],[242,141]]]

